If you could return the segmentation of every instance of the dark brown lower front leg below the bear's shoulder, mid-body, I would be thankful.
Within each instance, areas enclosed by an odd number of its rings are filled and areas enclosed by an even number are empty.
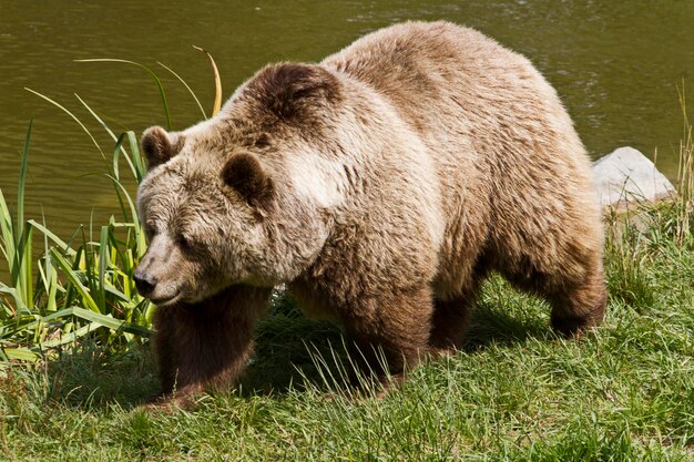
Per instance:
[[[398,379],[429,350],[432,298],[428,287],[359,300],[359,309],[346,310],[350,356],[366,374]],[[382,352],[382,353],[381,353]],[[379,358],[379,355],[382,355]],[[387,363],[387,370],[384,365]]]

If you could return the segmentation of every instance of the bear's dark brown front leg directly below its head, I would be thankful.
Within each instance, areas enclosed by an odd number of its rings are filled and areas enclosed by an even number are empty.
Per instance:
[[[233,386],[253,350],[253,329],[269,292],[232,286],[197,304],[157,308],[153,342],[160,401],[187,403],[196,393]]]

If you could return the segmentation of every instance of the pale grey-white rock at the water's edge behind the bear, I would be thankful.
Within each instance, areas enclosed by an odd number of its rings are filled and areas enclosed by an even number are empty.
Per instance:
[[[593,163],[593,187],[603,208],[625,208],[675,195],[670,181],[653,162],[633,147],[620,147]]]

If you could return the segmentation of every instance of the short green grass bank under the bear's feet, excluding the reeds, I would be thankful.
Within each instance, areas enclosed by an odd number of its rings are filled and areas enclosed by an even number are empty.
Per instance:
[[[146,348],[88,341],[11,368],[3,459],[692,460],[694,240],[678,240],[674,208],[642,223],[611,238],[608,317],[580,341],[553,337],[543,302],[492,279],[463,351],[382,399],[349,397],[320,366],[338,333],[279,298],[241,391],[193,413],[136,408],[156,389]]]

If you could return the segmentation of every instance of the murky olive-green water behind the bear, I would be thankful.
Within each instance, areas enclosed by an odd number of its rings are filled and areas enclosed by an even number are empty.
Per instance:
[[[528,55],[555,85],[595,157],[622,145],[676,175],[682,132],[676,86],[694,70],[694,2],[690,0],[472,0],[120,2],[0,0],[0,187],[14,201],[19,153],[35,117],[28,185],[29,214],[69,236],[116,211],[103,160],[64,113],[24,91],[55,99],[112,143],[90,120],[82,96],[119,131],[164,124],[155,86],[123,64],[75,63],[122,58],[176,70],[206,105],[217,60],[225,96],[271,61],[316,61],[371,30],[407,19],[447,19],[474,27]],[[183,86],[159,68],[174,129],[200,117]],[[694,88],[694,82],[690,82]],[[688,92],[694,97],[694,92]]]

